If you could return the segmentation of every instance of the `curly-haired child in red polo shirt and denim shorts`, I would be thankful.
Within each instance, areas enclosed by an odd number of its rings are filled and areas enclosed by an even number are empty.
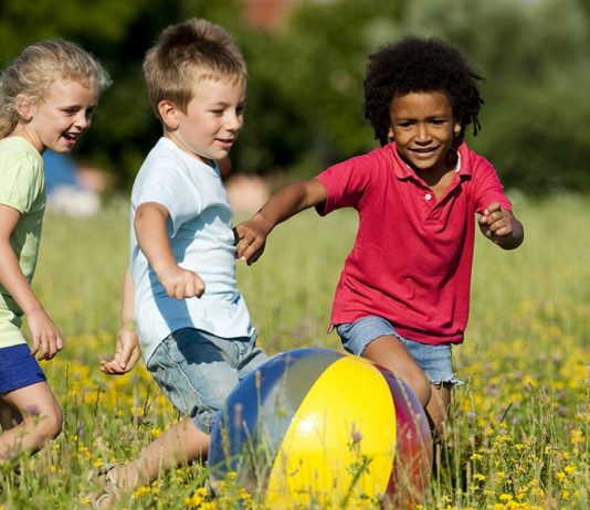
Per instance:
[[[524,238],[496,171],[463,141],[468,125],[474,135],[481,127],[481,79],[441,40],[382,47],[365,78],[365,116],[381,148],[286,187],[236,226],[236,256],[252,264],[273,227],[299,211],[358,211],[331,325],[347,351],[404,380],[439,432],[459,383],[451,346],[467,325],[475,213],[498,246]]]

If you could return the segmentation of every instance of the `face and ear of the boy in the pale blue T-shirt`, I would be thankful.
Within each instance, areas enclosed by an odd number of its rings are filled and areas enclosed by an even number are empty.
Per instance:
[[[158,105],[165,136],[204,162],[223,159],[244,126],[245,96],[245,83],[201,79],[186,111],[169,100]]]

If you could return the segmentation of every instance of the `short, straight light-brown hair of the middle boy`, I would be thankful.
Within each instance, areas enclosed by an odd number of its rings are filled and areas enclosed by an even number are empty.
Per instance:
[[[144,60],[149,102],[159,118],[162,99],[186,113],[196,81],[229,79],[245,83],[247,67],[242,52],[220,25],[192,18],[167,26]]]

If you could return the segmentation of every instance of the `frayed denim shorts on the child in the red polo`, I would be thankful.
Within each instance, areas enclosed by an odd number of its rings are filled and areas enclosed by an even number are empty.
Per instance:
[[[386,334],[396,337],[408,349],[408,352],[432,384],[462,384],[453,372],[450,343],[431,346],[414,342],[398,333],[388,320],[373,316],[364,317],[355,322],[338,325],[336,330],[343,340],[343,347],[357,355],[360,355],[365,348],[379,337]]]

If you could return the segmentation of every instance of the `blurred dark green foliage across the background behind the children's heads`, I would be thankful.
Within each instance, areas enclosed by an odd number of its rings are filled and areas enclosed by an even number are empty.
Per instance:
[[[252,1],[252,0],[250,0]],[[368,55],[404,33],[443,36],[486,76],[483,131],[470,139],[508,188],[546,194],[590,189],[588,0],[296,0],[278,26],[244,22],[245,0],[50,0],[0,3],[0,60],[62,36],[94,52],[114,85],[75,156],[127,188],[161,132],[141,60],[169,23],[224,25],[250,67],[244,132],[234,168],[309,177],[377,146],[362,119]]]

